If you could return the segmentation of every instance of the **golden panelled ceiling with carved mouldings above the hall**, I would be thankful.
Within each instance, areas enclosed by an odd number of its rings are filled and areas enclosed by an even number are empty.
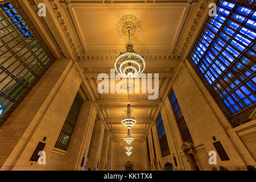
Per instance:
[[[148,100],[148,94],[130,94],[131,114],[137,119],[131,133],[133,137],[140,138],[144,137],[158,114],[162,98],[167,94],[180,61],[184,59],[189,32],[198,18],[202,2],[66,0],[53,4],[57,6],[62,23],[65,22],[77,63],[113,137],[123,138],[127,134],[121,120],[126,115],[128,95],[98,93],[97,76],[99,73],[110,75],[115,58],[125,51],[127,39],[120,34],[119,20],[125,15],[133,15],[139,20],[140,30],[132,39],[134,50],[144,56],[144,73],[159,73],[158,100]],[[47,24],[50,26],[51,23]],[[65,51],[63,53],[65,55]]]

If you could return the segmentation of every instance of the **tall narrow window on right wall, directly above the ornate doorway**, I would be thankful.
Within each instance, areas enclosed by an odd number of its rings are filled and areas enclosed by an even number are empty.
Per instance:
[[[177,98],[175,96],[174,90],[172,90],[172,92],[169,96],[169,99],[171,101],[172,110],[174,111],[177,126],[179,127],[179,130],[180,130],[180,135],[181,135],[182,141],[193,143],[191,134],[189,133],[189,130],[188,130],[188,126],[185,123],[185,119],[183,117],[183,114],[181,113],[180,105],[177,102]]]

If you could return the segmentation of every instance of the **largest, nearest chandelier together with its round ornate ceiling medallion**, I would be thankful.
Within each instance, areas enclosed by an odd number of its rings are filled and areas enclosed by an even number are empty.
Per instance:
[[[115,60],[115,71],[123,77],[137,77],[141,75],[145,69],[143,56],[134,51],[133,43],[130,41],[132,37],[138,34],[137,23],[134,23],[132,19],[127,19],[123,20],[121,25],[118,24],[118,28],[119,26],[121,26],[120,30],[122,35],[128,38],[128,42],[126,44],[126,52],[121,52]]]

